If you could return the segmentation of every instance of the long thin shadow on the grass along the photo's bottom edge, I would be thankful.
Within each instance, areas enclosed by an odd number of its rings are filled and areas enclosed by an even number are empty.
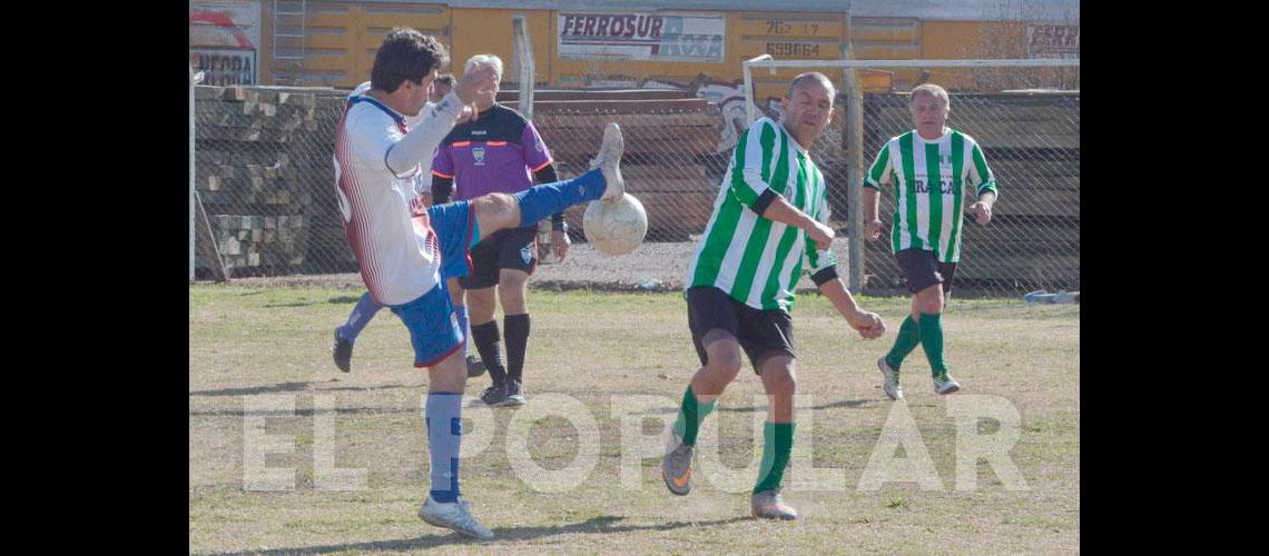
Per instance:
[[[551,537],[556,534],[569,534],[569,533],[624,533],[631,531],[670,531],[680,529],[684,527],[714,527],[726,526],[736,522],[747,522],[754,518],[751,517],[735,517],[728,519],[714,519],[707,522],[670,522],[661,524],[619,524],[621,521],[626,519],[621,515],[599,515],[586,519],[580,523],[572,523],[567,526],[547,526],[547,527],[503,527],[494,528],[495,538],[489,543],[496,543],[497,541],[532,541],[542,537]],[[430,526],[426,526],[430,528]],[[434,528],[438,533],[443,529]],[[435,548],[448,545],[470,545],[472,547],[489,546],[489,543],[482,543],[480,541],[464,537],[458,533],[440,533],[440,534],[426,534],[418,538],[400,538],[392,541],[371,541],[371,542],[353,542],[346,545],[321,545],[321,546],[301,546],[291,548],[275,548],[266,551],[242,551],[242,552],[216,552],[217,555],[246,555],[246,553],[268,553],[268,555],[282,555],[282,553],[310,553],[310,552],[372,552],[372,551],[392,551],[392,552],[412,552],[426,548]]]

